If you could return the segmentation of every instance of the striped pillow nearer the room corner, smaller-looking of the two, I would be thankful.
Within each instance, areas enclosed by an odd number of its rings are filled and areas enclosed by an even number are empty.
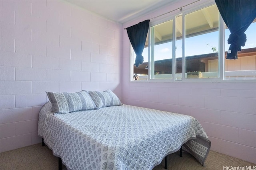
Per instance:
[[[89,94],[98,109],[101,107],[122,105],[119,98],[111,90],[106,90],[104,92],[92,91],[89,92]]]

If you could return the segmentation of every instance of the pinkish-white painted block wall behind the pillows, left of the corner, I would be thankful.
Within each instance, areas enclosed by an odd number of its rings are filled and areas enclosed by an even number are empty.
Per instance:
[[[122,27],[64,1],[0,1],[0,151],[40,143],[46,91],[121,97]]]

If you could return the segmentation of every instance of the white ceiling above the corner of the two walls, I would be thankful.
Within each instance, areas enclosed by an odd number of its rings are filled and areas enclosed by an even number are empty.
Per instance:
[[[118,23],[132,21],[176,0],[66,0]]]

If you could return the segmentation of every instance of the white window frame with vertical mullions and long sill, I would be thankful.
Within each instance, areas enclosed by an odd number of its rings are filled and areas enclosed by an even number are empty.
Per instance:
[[[147,80],[133,80],[133,49],[131,48],[130,55],[130,82],[256,82],[255,79],[225,79],[225,23],[219,14],[219,46],[218,46],[218,78],[185,78],[185,16],[186,14],[190,14],[195,12],[196,10],[201,10],[202,8],[206,8],[208,6],[212,6],[216,4],[215,2],[205,2],[203,4],[198,4],[197,6],[193,6],[191,8],[180,10],[176,13],[166,14],[164,16],[156,17],[150,20],[149,29],[148,29],[148,78]],[[176,47],[176,16],[182,15],[182,80],[175,80],[176,74],[176,61],[175,61],[175,47]],[[158,25],[160,23],[164,23],[166,21],[173,20],[173,34],[172,34],[172,78],[169,79],[152,79],[150,74],[151,70],[151,27]],[[184,48],[185,47],[185,48]],[[153,70],[154,71],[154,70]]]

